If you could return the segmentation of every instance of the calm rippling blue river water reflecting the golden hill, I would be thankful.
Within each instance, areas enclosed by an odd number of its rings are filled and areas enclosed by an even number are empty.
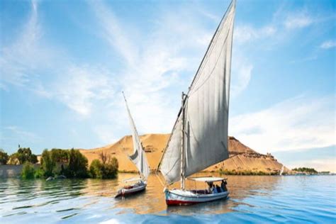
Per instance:
[[[228,176],[228,200],[172,208],[154,174],[144,193],[113,198],[133,176],[0,179],[0,223],[336,223],[336,176]]]

